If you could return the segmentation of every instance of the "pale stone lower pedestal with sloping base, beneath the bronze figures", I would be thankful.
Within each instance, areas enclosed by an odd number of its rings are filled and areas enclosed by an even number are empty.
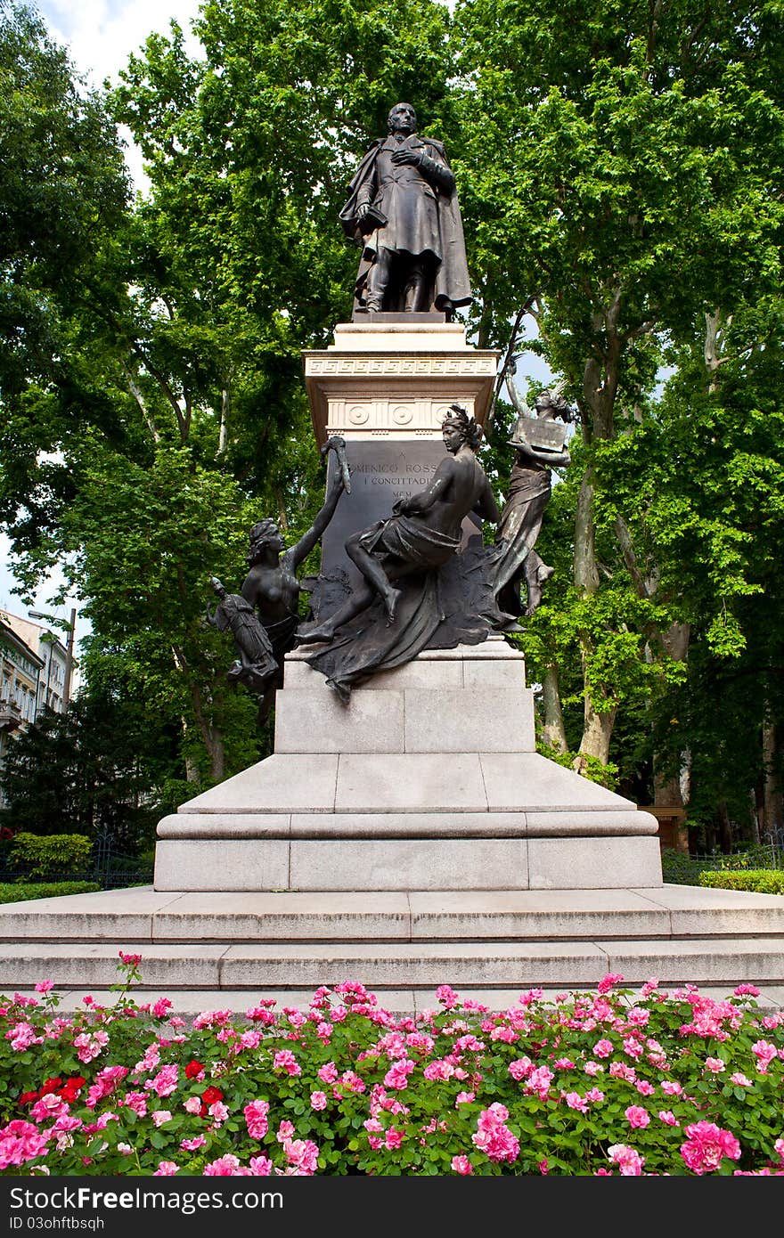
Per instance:
[[[535,751],[523,655],[431,650],[341,704],[286,659],[275,755],[159,825],[157,890],[661,884],[656,821]]]

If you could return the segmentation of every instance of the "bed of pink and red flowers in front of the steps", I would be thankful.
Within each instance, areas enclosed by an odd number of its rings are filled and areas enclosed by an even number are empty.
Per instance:
[[[784,1013],[607,976],[493,1013],[446,984],[385,1011],[362,984],[307,1013],[64,1016],[52,984],[0,999],[0,1170],[57,1175],[784,1174]]]

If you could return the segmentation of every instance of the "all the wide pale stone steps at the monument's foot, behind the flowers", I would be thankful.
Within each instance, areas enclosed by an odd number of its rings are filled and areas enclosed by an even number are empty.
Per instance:
[[[244,1010],[259,995],[306,1005],[360,980],[415,1010],[450,983],[500,1009],[519,993],[630,987],[722,989],[751,980],[784,1005],[784,899],[695,886],[617,890],[182,893],[151,888],[0,907],[0,990],[51,978],[72,1000],[110,1000],[118,952],[142,957],[140,1000]]]

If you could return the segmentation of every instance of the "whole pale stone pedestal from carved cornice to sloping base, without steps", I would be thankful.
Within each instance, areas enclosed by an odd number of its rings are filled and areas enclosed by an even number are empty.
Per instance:
[[[352,583],[348,535],[430,483],[451,404],[484,421],[498,358],[440,314],[339,323],[329,348],[303,354],[316,441],[342,435],[353,468],[322,573]],[[311,652],[286,657],[275,755],[161,821],[157,890],[661,884],[655,818],[536,754],[524,657],[502,636],[425,651],[348,706]]]

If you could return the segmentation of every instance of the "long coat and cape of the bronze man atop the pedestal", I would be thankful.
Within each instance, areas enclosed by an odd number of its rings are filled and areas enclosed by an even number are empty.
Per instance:
[[[398,165],[390,176],[389,165],[383,157],[379,160],[379,155],[400,146],[424,150],[425,156],[437,165],[436,176],[429,180],[414,165],[405,163]],[[437,175],[441,168],[446,175]],[[393,137],[380,137],[365,152],[349,186],[348,202],[341,212],[346,234],[363,246],[357,275],[358,303],[363,303],[368,271],[380,246],[412,256],[433,255],[436,275],[432,303],[436,310],[471,303],[471,281],[457,193],[453,188],[446,189],[445,183],[453,184],[453,176],[442,144],[432,137],[411,134],[403,144],[395,142]],[[363,236],[357,223],[357,209],[360,202],[368,201],[389,222],[386,227]]]

